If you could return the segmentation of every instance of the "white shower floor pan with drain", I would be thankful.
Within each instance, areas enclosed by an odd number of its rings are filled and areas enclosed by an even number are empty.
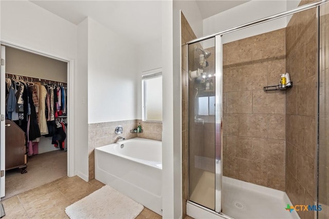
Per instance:
[[[191,195],[191,200],[214,208],[214,188],[213,183],[209,183],[213,179],[214,173],[205,171]],[[285,192],[226,176],[223,176],[222,202],[223,213],[235,219],[300,218],[296,211],[290,213],[285,209],[287,204],[292,205]],[[200,218],[195,214],[190,216]]]

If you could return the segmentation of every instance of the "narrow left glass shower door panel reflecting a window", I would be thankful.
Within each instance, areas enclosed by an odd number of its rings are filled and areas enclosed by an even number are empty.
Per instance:
[[[217,48],[218,50],[218,48]],[[221,211],[221,137],[216,117],[218,67],[215,37],[189,45],[189,199]],[[217,82],[216,82],[217,81]],[[216,92],[217,90],[217,92]],[[221,116],[220,116],[221,117]],[[219,120],[221,121],[221,120]],[[217,133],[217,134],[216,134]],[[217,137],[216,137],[217,136]],[[218,147],[217,147],[218,146]]]

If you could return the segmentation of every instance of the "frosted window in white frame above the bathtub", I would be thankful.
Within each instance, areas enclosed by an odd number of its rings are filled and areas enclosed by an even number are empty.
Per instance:
[[[162,121],[161,70],[142,75],[142,104],[144,121]]]

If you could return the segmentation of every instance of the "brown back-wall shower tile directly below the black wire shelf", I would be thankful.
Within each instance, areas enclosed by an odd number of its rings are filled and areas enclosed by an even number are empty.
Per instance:
[[[284,114],[285,93],[252,91],[252,113]]]

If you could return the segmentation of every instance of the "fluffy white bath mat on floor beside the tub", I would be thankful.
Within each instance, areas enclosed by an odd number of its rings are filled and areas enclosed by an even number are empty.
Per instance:
[[[71,219],[81,218],[135,218],[143,206],[130,197],[118,192],[111,186],[99,190],[66,207],[65,212]]]

